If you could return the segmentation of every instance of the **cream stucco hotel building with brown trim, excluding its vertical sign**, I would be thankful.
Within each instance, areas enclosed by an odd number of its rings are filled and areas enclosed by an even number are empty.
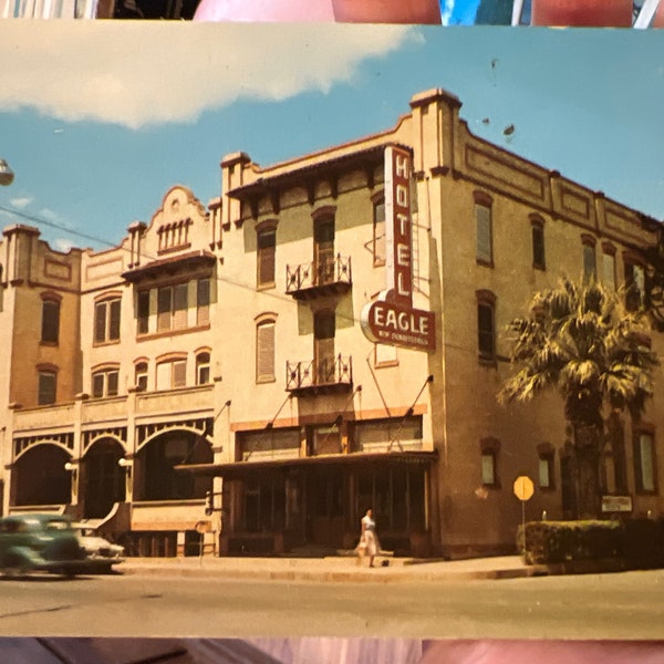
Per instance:
[[[219,198],[173,187],[106,251],[6,229],[3,510],[91,518],[136,554],[197,553],[197,526],[222,554],[347,549],[367,507],[397,552],[509,551],[519,475],[536,483],[529,518],[569,516],[562,404],[498,404],[499,331],[593,260],[601,280],[641,283],[657,222],[474,136],[459,108],[433,90],[353,143],[269,167],[227,155]],[[393,269],[390,146],[412,155],[404,262],[409,303],[435,320],[429,352],[361,326]],[[664,507],[662,377],[604,459],[605,492],[635,515]]]

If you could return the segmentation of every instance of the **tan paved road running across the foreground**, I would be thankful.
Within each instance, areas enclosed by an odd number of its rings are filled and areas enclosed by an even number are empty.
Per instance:
[[[663,639],[664,571],[437,583],[0,581],[0,635]]]

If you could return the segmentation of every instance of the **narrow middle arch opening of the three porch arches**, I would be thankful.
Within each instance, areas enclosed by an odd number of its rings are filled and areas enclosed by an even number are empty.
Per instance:
[[[85,453],[81,478],[85,519],[101,519],[115,502],[125,500],[125,470],[117,463],[123,456],[114,438],[100,438]]]

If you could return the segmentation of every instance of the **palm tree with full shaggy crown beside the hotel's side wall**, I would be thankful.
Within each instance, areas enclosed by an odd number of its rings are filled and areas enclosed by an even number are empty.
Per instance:
[[[528,402],[549,387],[560,392],[573,432],[581,518],[600,511],[604,422],[625,411],[637,421],[652,396],[658,359],[649,332],[645,312],[627,311],[620,293],[567,278],[537,293],[529,315],[508,325],[519,369],[498,397]]]

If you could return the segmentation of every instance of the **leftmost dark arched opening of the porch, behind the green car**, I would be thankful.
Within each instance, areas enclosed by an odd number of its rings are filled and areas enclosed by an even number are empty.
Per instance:
[[[13,501],[25,505],[68,505],[72,478],[64,465],[71,455],[50,443],[35,445],[21,455],[12,468]]]

